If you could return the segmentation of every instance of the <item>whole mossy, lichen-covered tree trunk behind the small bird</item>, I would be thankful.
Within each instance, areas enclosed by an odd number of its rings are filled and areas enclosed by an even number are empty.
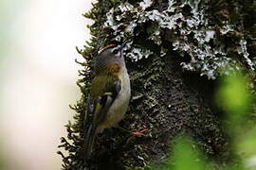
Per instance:
[[[94,20],[92,39],[78,49],[84,58],[78,85],[82,98],[71,109],[74,122],[62,138],[63,169],[147,169],[167,158],[170,141],[186,133],[210,159],[229,160],[229,144],[212,104],[210,79],[255,69],[256,3],[236,0],[98,0],[84,14]],[[231,8],[235,7],[235,8]],[[253,8],[254,7],[254,8]],[[255,21],[254,20],[254,21]],[[110,42],[128,42],[125,48],[132,98],[120,126],[147,129],[144,137],[106,129],[96,140],[92,159],[82,160],[84,129],[92,115],[86,100],[99,49]],[[231,65],[227,67],[227,65]],[[184,72],[195,71],[194,73]],[[200,75],[200,76],[199,76]],[[254,88],[254,86],[253,86]]]

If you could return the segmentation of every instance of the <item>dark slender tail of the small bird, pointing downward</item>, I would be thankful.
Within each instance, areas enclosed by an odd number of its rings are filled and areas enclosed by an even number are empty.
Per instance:
[[[95,136],[96,136],[96,127],[92,125],[88,128],[88,131],[82,146],[83,153],[84,153],[84,161],[89,160],[91,157]]]

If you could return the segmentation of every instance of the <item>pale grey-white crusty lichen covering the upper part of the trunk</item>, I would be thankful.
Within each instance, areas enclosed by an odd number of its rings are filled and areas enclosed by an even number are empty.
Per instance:
[[[148,40],[160,46],[159,56],[165,56],[169,50],[174,50],[182,57],[185,56],[184,54],[190,57],[190,61],[181,63],[183,69],[200,72],[201,76],[212,79],[241,69],[240,66],[236,66],[237,60],[233,55],[230,56],[226,44],[221,42],[235,31],[235,26],[226,21],[217,31],[215,27],[210,26],[209,16],[203,4],[200,0],[182,0],[181,3],[169,0],[168,7],[160,11],[148,9],[153,6],[153,0],[143,0],[137,6],[128,2],[120,3],[118,7],[112,8],[107,13],[107,21],[103,28],[113,29],[112,34],[120,42],[133,37],[137,26],[151,23],[152,26],[147,27]],[[190,8],[190,13],[182,12],[185,7]],[[169,30],[168,38],[162,37],[166,35],[166,30]],[[164,41],[173,45],[163,47],[161,45]],[[234,42],[233,46],[237,55],[247,62],[251,70],[254,70],[255,61],[249,59],[247,41],[241,39]],[[135,61],[153,54],[145,47],[139,45],[135,47],[132,43],[125,52],[127,57]],[[228,67],[229,65],[232,67]]]

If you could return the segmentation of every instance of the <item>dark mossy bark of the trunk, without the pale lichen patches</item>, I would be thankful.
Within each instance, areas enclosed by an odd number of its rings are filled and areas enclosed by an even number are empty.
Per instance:
[[[137,1],[128,2],[137,3]],[[221,127],[221,113],[215,109],[212,102],[214,81],[209,80],[207,76],[199,76],[198,73],[184,72],[180,65],[182,62],[190,61],[190,57],[186,54],[185,57],[180,57],[180,51],[168,50],[163,57],[160,57],[161,46],[166,46],[170,41],[162,41],[161,45],[156,45],[155,41],[147,39],[149,31],[146,29],[154,25],[152,22],[135,26],[133,30],[134,46],[150,49],[152,53],[148,59],[138,59],[136,62],[127,59],[132,98],[127,115],[119,124],[120,127],[130,131],[146,129],[145,136],[131,139],[130,133],[119,128],[106,129],[96,140],[92,159],[87,162],[82,161],[83,132],[92,117],[87,115],[85,110],[90,81],[93,77],[92,64],[101,46],[109,42],[119,42],[110,30],[103,29],[103,24],[107,21],[106,13],[110,8],[117,7],[120,3],[120,1],[99,0],[94,8],[85,14],[86,17],[95,20],[95,24],[90,26],[94,37],[84,50],[78,50],[86,59],[81,63],[84,70],[80,71],[82,79],[78,81],[82,89],[82,99],[76,106],[71,107],[78,113],[74,117],[75,122],[70,122],[66,126],[68,140],[62,138],[60,147],[64,147],[69,154],[64,156],[59,152],[64,158],[64,170],[147,169],[152,164],[167,158],[170,143],[172,144],[174,137],[180,133],[192,136],[210,159],[220,163],[229,161],[229,144],[227,135]],[[159,11],[168,4],[161,0],[154,3],[154,8]],[[253,59],[256,51],[256,25],[252,22],[256,20],[255,15],[252,15],[255,12],[253,8],[256,6],[255,3],[219,0],[215,3],[208,2],[204,6],[208,7],[208,14],[212,14],[210,19],[215,26],[223,25],[222,21],[228,19],[232,23],[243,23],[239,25],[243,26],[239,29],[243,35],[238,31],[232,31],[221,41],[224,44],[235,42],[232,39],[243,36],[247,40],[249,58]],[[237,7],[236,11],[234,11],[235,7]],[[182,10],[186,13],[190,8]],[[161,33],[162,38],[170,37],[170,32],[168,35],[164,33],[166,32]],[[125,36],[121,38],[125,39]],[[228,45],[227,48],[231,49],[232,46]],[[246,61],[242,59],[241,63]]]

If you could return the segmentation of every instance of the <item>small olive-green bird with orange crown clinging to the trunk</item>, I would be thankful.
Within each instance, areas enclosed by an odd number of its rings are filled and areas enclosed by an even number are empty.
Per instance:
[[[122,53],[124,45],[125,42],[107,45],[96,59],[87,101],[87,112],[93,114],[93,121],[85,132],[85,161],[90,159],[96,135],[105,128],[117,126],[128,108],[131,87]]]

